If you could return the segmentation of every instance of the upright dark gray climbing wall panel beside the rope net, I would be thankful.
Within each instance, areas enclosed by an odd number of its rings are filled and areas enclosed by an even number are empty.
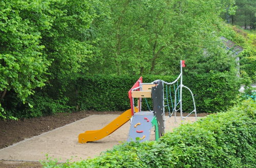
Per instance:
[[[161,137],[164,133],[164,107],[163,107],[163,82],[160,80],[159,85],[152,87],[153,111],[158,121],[158,133]]]

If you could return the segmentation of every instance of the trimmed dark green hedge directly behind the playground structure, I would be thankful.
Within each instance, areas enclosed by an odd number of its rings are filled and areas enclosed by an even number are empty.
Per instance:
[[[170,82],[174,81],[176,77],[145,75],[143,82],[152,82],[156,79]],[[80,109],[97,111],[129,109],[130,101],[127,92],[138,78],[139,76],[128,75],[79,77],[76,81],[78,106]],[[236,76],[230,76],[224,72],[183,76],[183,85],[194,93],[198,113],[226,110],[233,104],[239,93]],[[183,91],[183,109],[185,112],[190,112],[193,110],[193,102],[188,90],[183,89]]]

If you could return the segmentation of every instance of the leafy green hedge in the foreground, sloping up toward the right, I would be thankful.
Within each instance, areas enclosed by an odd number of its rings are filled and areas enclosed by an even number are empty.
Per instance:
[[[166,133],[160,141],[124,143],[94,159],[46,167],[254,167],[255,101],[212,114]]]

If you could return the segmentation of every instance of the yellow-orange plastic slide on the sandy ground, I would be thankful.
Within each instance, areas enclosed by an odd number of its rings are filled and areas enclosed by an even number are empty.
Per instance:
[[[78,136],[78,142],[87,143],[87,142],[97,141],[105,136],[108,136],[109,134],[117,130],[119,127],[121,127],[123,124],[125,124],[127,121],[129,121],[131,117],[132,117],[132,111],[131,109],[128,109],[124,111],[124,113],[122,113],[120,116],[118,116],[115,120],[113,120],[111,123],[103,127],[102,129],[91,130],[91,131],[86,131],[84,133],[80,133]]]

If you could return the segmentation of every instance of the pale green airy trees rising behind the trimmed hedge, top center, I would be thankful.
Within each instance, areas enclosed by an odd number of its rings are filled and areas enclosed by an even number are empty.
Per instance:
[[[204,48],[216,47],[219,15],[232,2],[109,0],[109,17],[92,25],[100,40],[89,72],[176,73],[180,59],[203,57]]]

